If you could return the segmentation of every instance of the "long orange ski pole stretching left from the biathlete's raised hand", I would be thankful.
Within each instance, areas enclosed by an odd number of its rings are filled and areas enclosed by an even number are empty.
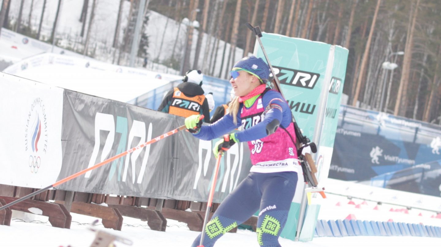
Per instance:
[[[204,118],[204,115],[201,115],[200,118],[199,118],[199,120],[201,121],[203,118]],[[69,180],[72,180],[73,178],[76,178],[76,177],[78,177],[78,176],[80,176],[80,175],[82,175],[82,174],[85,174],[85,173],[88,172],[88,171],[91,171],[91,170],[96,169],[96,168],[98,168],[98,167],[101,167],[101,166],[103,166],[103,165],[105,165],[105,164],[107,164],[107,163],[109,163],[109,162],[111,162],[111,161],[113,161],[113,160],[116,160],[116,159],[119,159],[119,158],[121,158],[121,157],[123,157],[123,156],[126,156],[126,155],[129,154],[129,153],[133,153],[133,152],[134,152],[135,150],[137,150],[137,149],[142,149],[142,148],[145,147],[146,145],[149,145],[149,144],[155,143],[155,142],[157,142],[157,141],[159,141],[159,140],[162,140],[162,139],[164,139],[164,138],[166,138],[166,137],[168,137],[168,136],[170,136],[170,135],[172,135],[172,134],[175,134],[175,133],[177,133],[177,132],[179,132],[179,131],[182,131],[183,129],[186,129],[185,125],[179,126],[179,127],[177,127],[176,129],[174,129],[174,130],[172,130],[172,131],[168,131],[168,132],[165,133],[165,134],[161,134],[161,135],[158,136],[157,138],[153,138],[153,139],[151,139],[150,141],[144,142],[144,143],[142,143],[142,144],[140,144],[140,145],[138,145],[138,146],[136,146],[136,147],[134,147],[134,148],[132,148],[132,149],[129,149],[129,150],[123,152],[123,153],[117,154],[117,155],[115,155],[115,156],[113,156],[113,157],[111,157],[111,158],[108,158],[107,160],[104,160],[104,161],[102,161],[102,162],[100,162],[100,163],[97,163],[96,165],[94,165],[94,166],[92,166],[92,167],[86,168],[86,169],[84,169],[84,170],[82,170],[82,171],[78,171],[77,173],[72,174],[72,175],[70,175],[70,176],[67,177],[67,178],[63,178],[63,179],[61,179],[60,181],[55,182],[54,184],[49,185],[49,186],[47,186],[47,187],[45,187],[45,188],[39,189],[39,190],[37,190],[37,191],[35,191],[35,192],[33,192],[33,193],[30,193],[30,194],[27,195],[27,196],[23,196],[23,197],[20,198],[20,199],[17,199],[17,200],[15,200],[15,201],[12,201],[12,202],[10,202],[10,203],[7,203],[6,205],[0,207],[0,210],[3,210],[3,209],[8,208],[8,207],[11,207],[12,205],[15,205],[15,204],[17,204],[17,203],[19,203],[19,202],[21,202],[21,201],[24,201],[24,200],[26,200],[26,199],[28,199],[28,198],[30,198],[30,197],[32,197],[32,196],[36,196],[36,195],[38,195],[38,194],[40,194],[40,193],[42,193],[42,192],[44,192],[44,191],[46,191],[46,190],[48,190],[48,189],[52,189],[53,187],[55,187],[55,186],[57,186],[57,185],[63,184],[63,183],[65,183],[65,182],[69,181]]]

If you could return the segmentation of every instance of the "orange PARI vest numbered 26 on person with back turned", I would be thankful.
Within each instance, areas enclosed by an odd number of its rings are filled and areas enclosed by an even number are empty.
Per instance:
[[[187,97],[177,87],[174,88],[172,103],[168,109],[168,113],[188,117],[201,113],[202,103],[204,103],[205,95],[196,95]]]

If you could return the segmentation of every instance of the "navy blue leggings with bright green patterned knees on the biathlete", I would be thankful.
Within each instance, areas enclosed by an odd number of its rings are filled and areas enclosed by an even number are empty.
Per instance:
[[[288,218],[297,185],[294,171],[251,172],[230,193],[213,214],[204,231],[204,247],[212,247],[225,232],[242,224],[259,211],[257,240],[260,246],[280,247],[278,238]],[[197,247],[201,234],[194,240]]]

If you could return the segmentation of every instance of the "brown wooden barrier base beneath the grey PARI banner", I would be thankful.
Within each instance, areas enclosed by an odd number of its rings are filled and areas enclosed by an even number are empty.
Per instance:
[[[4,203],[9,203],[19,197],[26,196],[36,189],[0,185],[0,198]],[[49,203],[54,200],[55,203]],[[0,204],[3,203],[0,201]],[[107,205],[100,205],[106,203]],[[167,219],[186,223],[192,231],[200,232],[205,217],[206,203],[185,200],[162,200],[156,198],[135,196],[109,196],[108,194],[95,194],[83,192],[70,192],[63,190],[48,190],[22,203],[17,203],[10,209],[0,211],[0,224],[8,225],[11,222],[11,209],[30,212],[27,209],[36,207],[43,210],[43,214],[49,217],[52,226],[69,228],[71,215],[69,212],[84,214],[102,219],[106,228],[121,230],[123,215],[146,221],[150,229],[165,231]],[[219,207],[219,203],[213,203],[210,217]],[[190,209],[190,210],[187,210]],[[51,211],[51,212],[49,212]],[[253,216],[244,222],[256,229],[257,217]],[[237,228],[230,232],[236,232]]]

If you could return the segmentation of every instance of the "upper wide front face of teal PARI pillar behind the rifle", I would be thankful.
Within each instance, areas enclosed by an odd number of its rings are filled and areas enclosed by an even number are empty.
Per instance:
[[[320,94],[329,83],[325,82],[325,72],[330,45],[272,33],[262,35],[262,44],[295,120],[303,133],[313,140]],[[265,60],[258,43],[254,55]]]

